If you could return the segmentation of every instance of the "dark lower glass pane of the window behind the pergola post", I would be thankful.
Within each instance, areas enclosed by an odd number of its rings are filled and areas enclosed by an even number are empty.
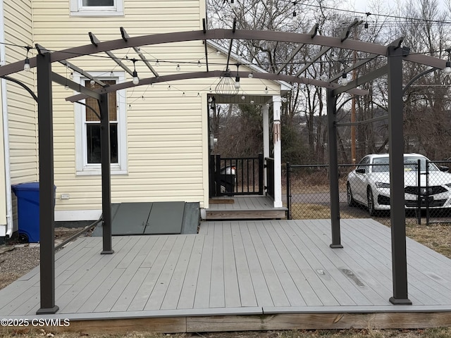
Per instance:
[[[100,124],[86,125],[87,163],[101,163],[100,157]],[[111,163],[118,163],[118,124],[110,124]]]

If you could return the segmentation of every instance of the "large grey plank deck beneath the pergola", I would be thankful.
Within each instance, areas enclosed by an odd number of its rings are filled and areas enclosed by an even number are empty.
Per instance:
[[[82,237],[56,255],[56,305],[81,332],[451,325],[451,260],[407,239],[409,299],[394,306],[390,229],[342,220],[204,222],[199,234]],[[39,269],[0,290],[0,318],[37,318]]]

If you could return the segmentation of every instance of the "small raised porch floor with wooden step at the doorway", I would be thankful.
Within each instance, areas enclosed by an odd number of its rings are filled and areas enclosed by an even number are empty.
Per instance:
[[[274,208],[273,199],[268,196],[221,196],[210,199],[206,220],[282,219],[286,211],[287,208]]]

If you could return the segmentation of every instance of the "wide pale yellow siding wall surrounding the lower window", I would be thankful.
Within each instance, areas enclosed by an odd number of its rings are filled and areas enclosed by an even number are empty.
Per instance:
[[[125,0],[121,17],[70,16],[69,1],[34,0],[34,39],[49,50],[89,44],[88,32],[101,41],[121,39],[119,27],[128,34],[148,35],[163,32],[202,29],[203,1]],[[204,45],[200,41],[142,46],[144,56],[159,75],[205,70]],[[116,56],[137,58],[134,51],[114,51]],[[202,68],[197,67],[201,61]],[[210,70],[221,69],[226,56],[209,49]],[[121,72],[116,63],[99,56],[68,60],[86,72]],[[132,63],[124,61],[132,68]],[[136,63],[141,78],[153,77],[142,62]],[[242,70],[243,68],[240,68]],[[70,70],[53,65],[57,73],[68,76]],[[127,80],[131,77],[127,75]],[[122,175],[111,177],[113,203],[131,201],[199,201],[208,204],[208,130],[207,95],[214,92],[218,79],[197,79],[155,84],[128,89],[120,100],[126,107],[126,144],[128,165]],[[278,93],[278,85],[257,79],[247,83],[245,94]],[[171,85],[171,90],[168,86]],[[210,89],[211,88],[211,89]],[[101,176],[78,175],[75,123],[77,108],[65,101],[75,94],[54,84],[54,172],[56,184],[56,220],[98,218],[101,209]],[[183,95],[185,93],[185,95]],[[17,99],[17,97],[16,97]],[[61,199],[68,194],[69,199]]]

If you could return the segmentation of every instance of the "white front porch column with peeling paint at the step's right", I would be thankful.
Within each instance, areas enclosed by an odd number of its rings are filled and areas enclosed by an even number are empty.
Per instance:
[[[273,144],[274,144],[274,208],[282,204],[282,147],[280,146],[280,95],[273,96]]]

